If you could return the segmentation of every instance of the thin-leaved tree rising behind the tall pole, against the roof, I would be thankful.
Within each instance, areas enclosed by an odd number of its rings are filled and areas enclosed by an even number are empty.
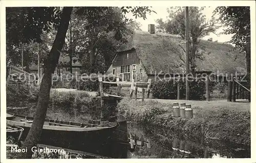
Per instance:
[[[200,46],[200,40],[209,35],[210,33],[215,33],[215,31],[220,27],[217,25],[217,20],[211,17],[210,20],[206,21],[205,15],[202,14],[204,8],[199,7],[189,7],[189,65],[191,73],[195,73],[196,59],[203,60],[203,53],[201,49],[204,47]],[[158,25],[156,29],[160,32],[166,32],[169,34],[180,35],[180,48],[184,52],[181,41],[185,39],[185,8],[184,7],[171,7],[167,9],[169,13],[169,19],[165,22],[162,19],[157,19]],[[183,59],[183,53],[178,53],[179,58],[185,64]]]

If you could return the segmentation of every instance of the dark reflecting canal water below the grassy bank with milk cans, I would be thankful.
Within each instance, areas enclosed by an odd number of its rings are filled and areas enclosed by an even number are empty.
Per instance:
[[[150,128],[151,130],[153,128]],[[249,148],[230,145],[219,140],[198,144],[190,140],[175,138],[172,135],[163,137],[156,130],[146,132],[143,126],[129,124],[129,158],[247,158]],[[146,144],[146,145],[145,145]]]

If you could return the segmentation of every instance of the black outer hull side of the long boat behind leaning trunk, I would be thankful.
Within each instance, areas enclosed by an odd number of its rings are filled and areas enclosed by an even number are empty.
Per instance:
[[[30,127],[24,127],[21,141],[28,135]],[[43,129],[39,144],[51,145],[72,150],[95,153],[109,156],[111,132],[114,128],[105,128],[93,131],[64,131]]]

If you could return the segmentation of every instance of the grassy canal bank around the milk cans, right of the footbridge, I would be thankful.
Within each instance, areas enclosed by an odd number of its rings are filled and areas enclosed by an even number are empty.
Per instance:
[[[123,99],[117,108],[127,119],[145,126],[148,133],[189,139],[199,144],[218,140],[250,146],[250,112],[247,103],[189,102],[194,109],[194,118],[190,120],[174,118],[173,105],[166,101]]]

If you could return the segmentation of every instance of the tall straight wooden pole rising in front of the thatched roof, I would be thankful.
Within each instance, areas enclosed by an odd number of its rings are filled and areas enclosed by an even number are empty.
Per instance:
[[[188,74],[189,74],[189,17],[188,17],[188,7],[186,7],[185,21],[186,21],[186,100],[189,100],[189,83],[188,83]]]

